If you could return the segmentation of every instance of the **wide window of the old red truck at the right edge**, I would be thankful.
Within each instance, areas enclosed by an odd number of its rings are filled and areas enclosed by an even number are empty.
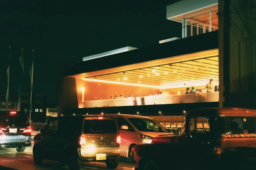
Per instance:
[[[215,133],[221,137],[256,137],[256,117],[216,117]]]

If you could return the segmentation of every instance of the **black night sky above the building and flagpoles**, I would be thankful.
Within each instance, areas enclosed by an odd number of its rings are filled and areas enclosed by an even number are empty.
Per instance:
[[[1,1],[0,93],[7,90],[9,46],[10,93],[18,93],[22,48],[22,91],[30,91],[28,70],[34,49],[33,92],[44,93],[47,103],[57,105],[60,60],[81,62],[85,56],[126,46],[143,48],[181,37],[181,23],[166,19],[166,5],[176,1]]]

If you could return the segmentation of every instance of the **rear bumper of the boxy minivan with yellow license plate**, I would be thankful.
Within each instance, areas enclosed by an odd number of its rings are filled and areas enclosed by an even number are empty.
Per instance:
[[[121,149],[120,148],[97,148],[91,151],[85,151],[82,148],[77,149],[77,154],[79,158],[83,162],[91,162],[91,161],[105,161],[105,160],[96,160],[96,154],[106,154],[106,159],[114,159],[120,155]]]

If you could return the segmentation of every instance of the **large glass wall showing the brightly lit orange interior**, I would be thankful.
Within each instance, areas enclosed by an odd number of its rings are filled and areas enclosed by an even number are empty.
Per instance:
[[[210,50],[76,78],[78,107],[218,102],[218,64]]]

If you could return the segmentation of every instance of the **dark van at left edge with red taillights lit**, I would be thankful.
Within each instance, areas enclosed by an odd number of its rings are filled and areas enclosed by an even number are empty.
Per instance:
[[[25,112],[0,111],[0,148],[23,152],[31,146],[31,128]]]

